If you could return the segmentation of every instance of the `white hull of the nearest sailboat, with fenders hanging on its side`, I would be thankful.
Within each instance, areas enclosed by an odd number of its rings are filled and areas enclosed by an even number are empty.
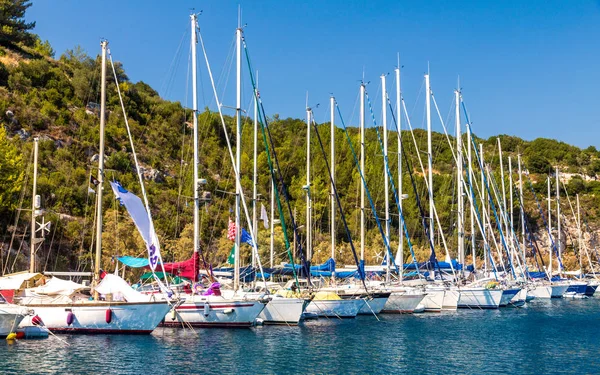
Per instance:
[[[158,326],[170,306],[157,302],[82,302],[31,304],[43,325],[57,333],[149,334]],[[110,312],[109,312],[110,311]],[[31,326],[31,319],[21,322]]]

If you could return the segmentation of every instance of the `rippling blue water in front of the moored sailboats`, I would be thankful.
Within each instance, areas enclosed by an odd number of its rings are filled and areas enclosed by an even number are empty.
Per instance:
[[[600,373],[600,299],[0,343],[0,373]]]

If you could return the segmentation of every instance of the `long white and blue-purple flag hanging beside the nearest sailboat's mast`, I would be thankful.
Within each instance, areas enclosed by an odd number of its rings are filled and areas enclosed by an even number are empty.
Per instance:
[[[127,209],[127,212],[129,212],[129,216],[133,219],[138,232],[140,232],[140,235],[144,239],[146,248],[148,249],[149,266],[152,271],[154,271],[162,258],[160,256],[158,237],[154,230],[154,224],[152,223],[150,214],[146,211],[142,200],[137,195],[127,191],[120,183],[111,181],[110,186],[119,202],[121,202]]]

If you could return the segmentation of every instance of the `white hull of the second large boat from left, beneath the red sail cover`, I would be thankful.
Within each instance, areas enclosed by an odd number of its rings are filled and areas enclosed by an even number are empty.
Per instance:
[[[164,316],[171,327],[251,327],[265,305],[257,299],[193,295]]]

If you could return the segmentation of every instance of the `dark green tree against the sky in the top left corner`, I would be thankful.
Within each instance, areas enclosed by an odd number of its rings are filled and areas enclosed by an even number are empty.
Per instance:
[[[35,38],[28,31],[35,22],[25,22],[25,11],[31,6],[30,0],[0,0],[0,44],[14,45],[23,42],[31,46]]]

